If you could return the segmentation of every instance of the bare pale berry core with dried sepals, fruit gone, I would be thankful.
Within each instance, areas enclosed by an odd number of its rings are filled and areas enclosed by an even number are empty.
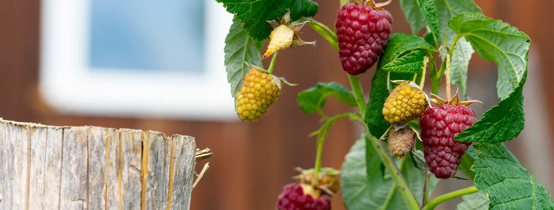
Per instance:
[[[277,18],[277,20],[268,21],[273,30],[269,35],[268,50],[261,56],[263,59],[269,57],[273,52],[277,50],[284,50],[290,46],[295,48],[299,45],[312,44],[315,45],[315,41],[306,42],[300,39],[300,29],[309,21],[297,23],[291,25],[290,10],[288,10],[283,18]]]

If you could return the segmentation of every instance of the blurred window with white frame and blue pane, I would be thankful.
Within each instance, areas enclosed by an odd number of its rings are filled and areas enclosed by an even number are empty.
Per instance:
[[[40,90],[60,112],[235,119],[213,0],[43,0]]]

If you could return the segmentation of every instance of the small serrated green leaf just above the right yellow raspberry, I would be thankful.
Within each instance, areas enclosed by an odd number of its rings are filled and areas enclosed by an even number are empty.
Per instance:
[[[420,73],[423,66],[423,56],[421,51],[411,51],[384,65],[382,69],[390,72]]]

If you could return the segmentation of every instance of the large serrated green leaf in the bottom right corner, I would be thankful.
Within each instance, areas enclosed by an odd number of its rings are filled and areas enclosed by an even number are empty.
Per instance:
[[[489,196],[489,209],[552,209],[552,197],[502,143],[474,145],[475,186]]]

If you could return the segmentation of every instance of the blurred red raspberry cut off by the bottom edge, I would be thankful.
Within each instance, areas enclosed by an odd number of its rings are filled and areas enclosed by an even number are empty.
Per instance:
[[[319,196],[318,190],[306,184],[290,183],[278,197],[277,210],[331,210],[331,198]]]

